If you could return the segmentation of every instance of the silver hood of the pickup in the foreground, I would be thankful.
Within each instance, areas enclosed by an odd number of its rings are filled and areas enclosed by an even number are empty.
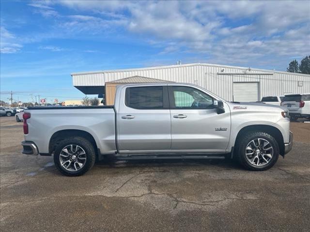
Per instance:
[[[231,111],[287,111],[287,109],[272,104],[256,103],[256,102],[226,102]]]

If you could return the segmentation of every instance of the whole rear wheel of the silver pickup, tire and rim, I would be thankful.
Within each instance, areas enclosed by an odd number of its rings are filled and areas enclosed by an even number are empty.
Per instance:
[[[54,163],[62,174],[78,176],[93,167],[96,155],[91,142],[82,137],[69,137],[60,142],[54,153]]]

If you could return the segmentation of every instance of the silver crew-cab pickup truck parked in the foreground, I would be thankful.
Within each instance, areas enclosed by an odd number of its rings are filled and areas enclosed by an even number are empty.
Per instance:
[[[95,160],[231,159],[249,170],[272,167],[293,145],[279,106],[227,102],[195,85],[118,86],[113,106],[33,107],[24,111],[22,153],[54,156],[76,176]]]

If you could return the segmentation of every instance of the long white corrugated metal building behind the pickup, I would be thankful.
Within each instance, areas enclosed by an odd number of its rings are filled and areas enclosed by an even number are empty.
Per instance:
[[[227,65],[194,63],[139,69],[72,73],[73,85],[85,94],[102,94],[106,82],[144,76],[192,83],[229,101],[254,102],[264,96],[310,92],[310,75]]]

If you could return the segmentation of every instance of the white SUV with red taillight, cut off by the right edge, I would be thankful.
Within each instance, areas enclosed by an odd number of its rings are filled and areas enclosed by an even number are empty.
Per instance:
[[[298,118],[310,119],[310,93],[285,95],[281,106],[288,109],[292,121]]]

